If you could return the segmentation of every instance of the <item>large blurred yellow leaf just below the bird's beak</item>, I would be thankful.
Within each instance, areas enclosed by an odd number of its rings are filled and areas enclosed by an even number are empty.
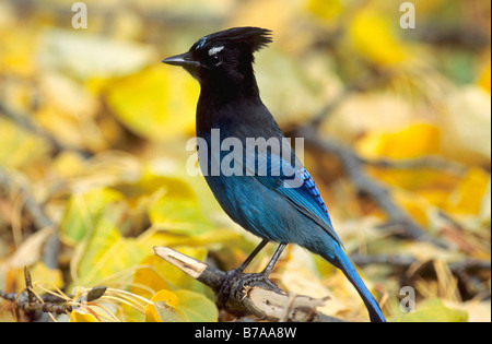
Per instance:
[[[133,132],[167,141],[195,129],[198,83],[177,68],[156,66],[116,81],[108,105]]]

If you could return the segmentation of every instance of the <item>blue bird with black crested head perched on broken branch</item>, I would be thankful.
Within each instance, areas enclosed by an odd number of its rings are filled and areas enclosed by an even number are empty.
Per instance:
[[[198,156],[215,199],[234,222],[262,238],[227,276],[243,273],[267,242],[279,242],[258,274],[268,278],[285,246],[296,244],[339,268],[362,297],[371,321],[384,322],[377,301],[333,229],[313,178],[261,102],[254,54],[271,41],[269,29],[234,27],[200,38],[189,51],[163,60],[183,67],[200,83],[196,131],[207,145],[199,145]],[[220,144],[213,147],[215,133]]]

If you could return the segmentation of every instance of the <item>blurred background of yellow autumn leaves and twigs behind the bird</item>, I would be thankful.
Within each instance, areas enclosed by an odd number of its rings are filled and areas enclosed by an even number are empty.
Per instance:
[[[305,165],[388,320],[491,320],[490,1],[74,3],[0,2],[0,290],[22,290],[26,265],[39,294],[106,285],[156,301],[165,290],[183,316],[168,320],[229,319],[153,256],[168,246],[229,270],[258,242],[186,173],[199,86],[160,61],[260,26],[274,32],[257,54],[261,97],[288,135],[313,133]],[[330,296],[326,315],[366,319],[343,275],[300,248],[272,278]],[[414,312],[402,311],[405,286]],[[154,319],[142,305],[109,310]],[[0,320],[16,319],[0,300]]]

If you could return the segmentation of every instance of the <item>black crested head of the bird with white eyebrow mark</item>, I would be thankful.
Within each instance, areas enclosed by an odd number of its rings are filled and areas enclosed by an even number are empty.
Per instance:
[[[254,52],[271,41],[269,29],[234,27],[204,36],[187,52],[164,59],[163,62],[183,67],[202,86],[207,84],[223,88],[248,84],[255,79]]]

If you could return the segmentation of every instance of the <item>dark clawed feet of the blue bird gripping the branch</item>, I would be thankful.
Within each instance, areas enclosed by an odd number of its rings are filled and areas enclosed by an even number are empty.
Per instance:
[[[262,287],[278,290],[279,287],[268,278],[268,275],[265,272],[244,273],[238,269],[225,272],[221,280],[221,286],[216,290],[219,306],[225,306],[230,297],[235,293],[242,293],[242,295],[235,297],[235,299],[242,299],[246,286],[261,285]]]

